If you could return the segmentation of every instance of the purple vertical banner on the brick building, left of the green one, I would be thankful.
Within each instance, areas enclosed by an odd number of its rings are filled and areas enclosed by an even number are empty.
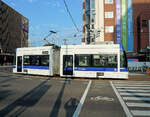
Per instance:
[[[121,44],[121,0],[116,0],[116,43]]]

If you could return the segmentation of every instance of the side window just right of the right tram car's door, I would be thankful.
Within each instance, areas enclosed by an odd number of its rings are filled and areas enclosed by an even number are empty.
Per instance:
[[[89,67],[91,61],[91,55],[75,55],[75,67]]]

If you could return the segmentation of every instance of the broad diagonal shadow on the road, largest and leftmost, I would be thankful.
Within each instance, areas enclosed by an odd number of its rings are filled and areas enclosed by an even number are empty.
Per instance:
[[[9,115],[10,117],[18,117],[21,115],[28,107],[34,106],[41,98],[45,95],[51,85],[46,85],[47,80],[39,84],[37,87],[32,89],[30,92],[24,96],[17,99],[15,102],[11,103],[4,109],[0,111],[0,117]],[[15,112],[13,112],[15,111]]]

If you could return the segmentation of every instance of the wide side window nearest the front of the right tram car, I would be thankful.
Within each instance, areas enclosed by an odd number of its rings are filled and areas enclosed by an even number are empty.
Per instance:
[[[94,67],[117,67],[117,55],[93,55]]]

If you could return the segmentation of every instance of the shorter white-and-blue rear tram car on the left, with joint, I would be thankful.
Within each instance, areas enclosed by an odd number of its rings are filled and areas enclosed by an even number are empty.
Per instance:
[[[17,48],[13,73],[59,75],[59,58],[58,46]]]

